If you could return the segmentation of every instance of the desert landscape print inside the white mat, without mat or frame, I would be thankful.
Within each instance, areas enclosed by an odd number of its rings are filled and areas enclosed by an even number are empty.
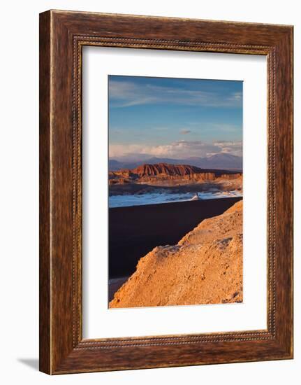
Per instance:
[[[108,307],[243,302],[243,81],[108,76]]]

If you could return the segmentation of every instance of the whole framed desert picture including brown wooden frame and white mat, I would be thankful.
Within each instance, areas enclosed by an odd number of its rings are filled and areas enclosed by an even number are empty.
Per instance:
[[[40,15],[40,370],[293,358],[293,27]]]

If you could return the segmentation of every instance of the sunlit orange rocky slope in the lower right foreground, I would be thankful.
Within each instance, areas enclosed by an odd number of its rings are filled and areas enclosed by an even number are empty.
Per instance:
[[[242,201],[138,262],[110,308],[242,302]]]

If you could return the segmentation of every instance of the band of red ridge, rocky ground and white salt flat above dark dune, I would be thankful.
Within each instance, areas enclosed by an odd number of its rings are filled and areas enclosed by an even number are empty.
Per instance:
[[[155,199],[154,203],[163,203],[191,200],[196,194],[200,199],[240,196],[242,172],[168,163],[142,164],[134,169],[109,172],[110,207],[135,205],[140,202],[145,204],[141,195]],[[133,199],[126,200],[125,195],[132,196]],[[126,204],[128,201],[129,204]]]

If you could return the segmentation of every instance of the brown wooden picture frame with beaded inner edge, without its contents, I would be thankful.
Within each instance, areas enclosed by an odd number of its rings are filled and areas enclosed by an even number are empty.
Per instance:
[[[266,55],[267,330],[82,339],[82,46]],[[40,370],[293,358],[293,27],[50,10],[40,15]]]

